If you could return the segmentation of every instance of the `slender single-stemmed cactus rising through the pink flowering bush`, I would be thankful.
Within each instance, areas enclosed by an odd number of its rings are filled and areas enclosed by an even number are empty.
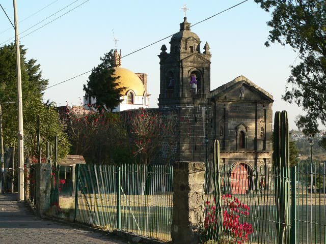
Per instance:
[[[213,159],[213,185],[214,185],[214,199],[216,202],[215,217],[218,221],[216,226],[216,235],[218,239],[223,232],[223,212],[222,212],[222,189],[221,189],[221,175],[220,175],[220,142],[214,141],[214,159]]]

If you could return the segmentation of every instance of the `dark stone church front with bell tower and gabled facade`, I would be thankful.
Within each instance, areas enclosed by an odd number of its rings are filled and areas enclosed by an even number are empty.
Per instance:
[[[210,48],[201,52],[199,37],[186,17],[170,41],[162,45],[160,95],[163,113],[177,116],[177,161],[211,161],[212,141],[221,144],[221,159],[247,171],[271,165],[273,97],[244,76],[210,87]]]

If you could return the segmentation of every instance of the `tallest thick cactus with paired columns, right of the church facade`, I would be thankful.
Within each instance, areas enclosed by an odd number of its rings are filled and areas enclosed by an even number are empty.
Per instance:
[[[278,243],[288,242],[288,226],[290,224],[290,181],[289,181],[289,125],[287,112],[277,111],[274,119],[274,153],[275,164],[275,201],[276,225],[278,233]]]

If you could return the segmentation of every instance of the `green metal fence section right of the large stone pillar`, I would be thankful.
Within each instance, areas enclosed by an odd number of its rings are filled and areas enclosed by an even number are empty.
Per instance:
[[[290,182],[289,223],[277,217],[276,188],[283,176],[276,168],[220,167],[216,172],[221,177],[220,215],[213,195],[213,169],[208,166],[206,171],[202,243],[280,243],[280,226],[287,236],[282,243],[326,243],[324,164],[305,162],[291,168],[286,178]],[[219,218],[223,220],[220,227]]]

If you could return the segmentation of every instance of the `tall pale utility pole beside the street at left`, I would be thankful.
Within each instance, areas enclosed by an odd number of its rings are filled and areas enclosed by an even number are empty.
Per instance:
[[[24,137],[22,126],[22,96],[21,96],[21,72],[20,72],[20,49],[18,33],[18,13],[16,0],[14,1],[15,15],[15,41],[17,55],[17,94],[18,94],[18,201],[24,200]]]

